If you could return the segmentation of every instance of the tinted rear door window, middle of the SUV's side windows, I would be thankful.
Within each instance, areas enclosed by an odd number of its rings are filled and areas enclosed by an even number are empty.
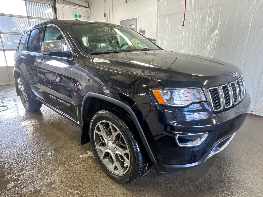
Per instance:
[[[39,53],[41,40],[41,28],[34,29],[31,31],[27,50],[30,52]]]

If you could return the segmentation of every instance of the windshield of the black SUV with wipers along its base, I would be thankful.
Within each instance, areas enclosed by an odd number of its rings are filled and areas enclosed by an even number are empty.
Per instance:
[[[96,23],[68,23],[67,26],[88,54],[160,50],[150,40],[127,27]]]

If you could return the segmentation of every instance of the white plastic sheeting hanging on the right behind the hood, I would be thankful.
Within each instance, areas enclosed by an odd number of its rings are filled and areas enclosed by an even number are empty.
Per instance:
[[[160,0],[157,44],[166,50],[209,56],[242,70],[252,113],[263,116],[263,1]]]

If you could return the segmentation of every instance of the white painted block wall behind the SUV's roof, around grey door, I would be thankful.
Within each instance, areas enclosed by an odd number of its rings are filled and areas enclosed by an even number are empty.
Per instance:
[[[122,19],[138,16],[138,30],[143,28],[145,37],[156,39],[156,15],[157,0],[105,0],[105,9],[104,0],[92,0],[89,20],[120,24]]]

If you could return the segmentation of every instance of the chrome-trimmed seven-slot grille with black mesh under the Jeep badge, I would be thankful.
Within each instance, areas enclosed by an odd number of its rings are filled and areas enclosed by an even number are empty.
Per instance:
[[[206,96],[211,102],[214,111],[229,108],[239,103],[245,95],[244,79],[241,76],[236,81],[219,87],[206,89]]]

